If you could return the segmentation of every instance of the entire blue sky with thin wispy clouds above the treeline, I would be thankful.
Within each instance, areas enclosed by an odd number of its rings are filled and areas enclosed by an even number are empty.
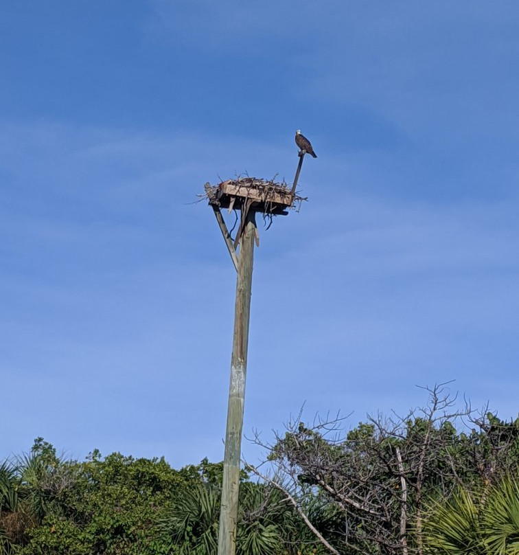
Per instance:
[[[515,1],[107,0],[0,16],[0,455],[222,458],[235,273],[203,183],[290,181],[255,252],[244,431],[517,414]],[[247,457],[260,456],[244,443]]]

